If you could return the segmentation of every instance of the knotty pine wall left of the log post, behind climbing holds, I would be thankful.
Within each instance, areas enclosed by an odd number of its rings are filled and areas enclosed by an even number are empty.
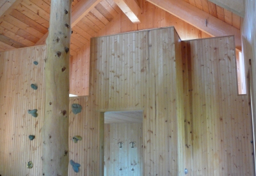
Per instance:
[[[0,175],[42,175],[45,49],[0,52]],[[29,115],[28,109],[38,109],[38,117]],[[35,140],[29,140],[30,134]],[[33,169],[27,168],[28,161]]]

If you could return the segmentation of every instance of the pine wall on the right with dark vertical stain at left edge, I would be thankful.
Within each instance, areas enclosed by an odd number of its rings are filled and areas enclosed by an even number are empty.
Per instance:
[[[248,95],[237,95],[235,55],[233,36],[182,42],[189,175],[253,175],[252,118]]]

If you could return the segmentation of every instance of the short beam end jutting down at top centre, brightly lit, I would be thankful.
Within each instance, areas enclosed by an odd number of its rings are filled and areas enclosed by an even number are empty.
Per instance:
[[[114,0],[125,15],[135,24],[141,23],[141,8],[136,0]]]

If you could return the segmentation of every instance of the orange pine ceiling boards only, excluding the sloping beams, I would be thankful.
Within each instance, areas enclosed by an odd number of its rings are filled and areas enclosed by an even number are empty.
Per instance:
[[[79,5],[79,1],[72,2],[73,9]],[[145,0],[138,0],[145,1]],[[227,22],[237,29],[241,28],[241,17],[217,6],[207,0],[184,0],[200,10],[204,10],[212,16]],[[47,36],[49,28],[50,0],[16,0],[6,10],[8,0],[0,0],[0,51],[7,51],[22,47],[30,47],[41,44],[40,38]],[[146,2],[148,3],[148,2]],[[140,3],[138,3],[140,4]],[[123,13],[114,0],[102,0],[95,5],[90,12],[72,27],[70,54],[76,54],[90,38],[113,20],[118,13]],[[43,40],[44,42],[44,40]]]

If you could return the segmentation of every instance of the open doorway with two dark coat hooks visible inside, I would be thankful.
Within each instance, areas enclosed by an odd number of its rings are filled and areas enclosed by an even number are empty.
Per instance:
[[[104,176],[143,175],[143,111],[104,113]]]

